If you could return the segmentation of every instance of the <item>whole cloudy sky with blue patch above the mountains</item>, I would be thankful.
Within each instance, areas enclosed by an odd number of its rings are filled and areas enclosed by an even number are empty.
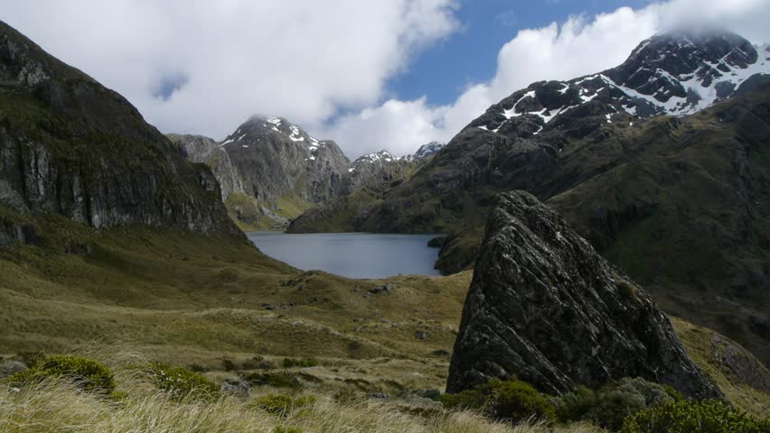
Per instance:
[[[164,133],[279,115],[352,159],[449,141],[533,81],[614,67],[656,32],[770,42],[770,0],[0,0],[0,20]]]

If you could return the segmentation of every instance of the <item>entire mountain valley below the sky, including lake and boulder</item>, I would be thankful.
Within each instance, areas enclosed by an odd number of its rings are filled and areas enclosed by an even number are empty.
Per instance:
[[[0,430],[764,433],[768,72],[658,33],[351,161],[162,134],[0,22]]]

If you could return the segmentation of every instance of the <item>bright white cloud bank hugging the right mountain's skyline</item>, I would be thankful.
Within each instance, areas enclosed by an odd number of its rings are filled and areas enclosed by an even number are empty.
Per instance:
[[[564,23],[518,32],[502,46],[494,78],[467,88],[450,106],[430,106],[424,98],[389,100],[343,117],[328,134],[367,152],[383,147],[413,152],[422,143],[451,139],[487,107],[534,81],[577,78],[615,67],[656,32],[694,25],[721,27],[759,43],[770,41],[766,23],[770,0],[671,0],[637,10],[622,7],[593,17],[572,16]],[[410,109],[393,110],[394,106]],[[380,128],[378,119],[395,127]],[[356,124],[367,124],[378,133],[364,142],[365,134]]]

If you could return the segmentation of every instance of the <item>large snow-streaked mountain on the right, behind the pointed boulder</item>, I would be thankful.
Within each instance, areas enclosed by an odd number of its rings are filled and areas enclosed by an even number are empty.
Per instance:
[[[731,33],[656,35],[618,68],[514,92],[365,215],[327,218],[353,231],[448,233],[437,265],[457,272],[473,266],[496,194],[526,190],[664,311],[726,334],[767,364],[770,79],[750,75],[768,70],[767,57]],[[653,73],[636,82],[633,71]],[[692,79],[700,84],[686,93],[700,101],[728,86],[718,83],[737,88],[686,114],[700,106],[676,86]],[[658,91],[662,81],[670,92]],[[304,231],[324,228],[298,220]]]

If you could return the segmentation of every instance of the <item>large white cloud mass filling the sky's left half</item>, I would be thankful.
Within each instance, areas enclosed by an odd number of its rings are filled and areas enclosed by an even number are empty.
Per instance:
[[[318,125],[455,32],[455,0],[0,0],[2,19],[164,132],[222,138],[255,113]],[[183,83],[156,97],[163,81]]]

